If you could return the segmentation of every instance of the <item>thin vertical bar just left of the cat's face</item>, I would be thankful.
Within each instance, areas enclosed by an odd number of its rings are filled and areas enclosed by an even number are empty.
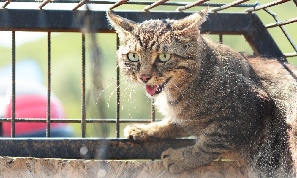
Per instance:
[[[116,50],[119,50],[120,39],[118,35],[116,36]],[[116,138],[120,137],[120,68],[118,61],[116,60]]]

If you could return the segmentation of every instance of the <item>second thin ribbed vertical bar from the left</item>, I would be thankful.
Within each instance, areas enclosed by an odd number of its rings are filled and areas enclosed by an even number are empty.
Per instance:
[[[48,31],[48,103],[46,111],[46,137],[50,137],[50,32]]]

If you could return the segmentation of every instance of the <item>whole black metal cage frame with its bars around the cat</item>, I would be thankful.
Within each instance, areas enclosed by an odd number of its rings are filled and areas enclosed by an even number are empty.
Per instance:
[[[4,1],[4,0],[0,0]],[[6,0],[4,5],[7,6],[11,0]],[[27,2],[27,0],[15,0],[18,2]],[[277,44],[268,33],[266,27],[255,13],[251,13],[257,8],[257,4],[241,4],[245,0],[236,1],[233,4],[227,3],[203,3],[208,0],[199,0],[194,3],[182,2],[166,2],[160,0],[157,2],[145,1],[75,1],[79,3],[75,9],[87,3],[115,3],[110,9],[121,4],[151,4],[143,11],[114,11],[116,14],[131,19],[135,22],[142,22],[148,19],[181,19],[193,12],[180,12],[180,10],[188,9],[193,6],[220,6],[214,8],[213,11],[219,11],[224,8],[250,7],[248,12],[240,13],[216,13],[211,12],[208,20],[203,23],[201,32],[218,34],[219,42],[222,43],[223,34],[242,34],[251,45],[255,54],[264,55],[285,60],[285,55],[281,52]],[[127,2],[128,1],[128,2]],[[39,2],[39,1],[38,1]],[[120,119],[119,105],[116,107],[115,119],[86,119],[85,109],[85,32],[82,33],[82,117],[81,119],[51,119],[50,118],[50,33],[51,32],[81,32],[83,28],[83,20],[85,14],[88,13],[92,20],[99,22],[94,23],[93,29],[100,33],[114,33],[111,26],[105,18],[105,11],[89,11],[84,10],[44,10],[41,9],[50,0],[45,0],[40,5],[39,10],[32,9],[0,9],[0,31],[12,31],[12,118],[0,118],[0,123],[12,123],[12,137],[15,137],[15,122],[46,122],[47,137],[50,137],[50,123],[81,123],[82,138],[0,138],[0,155],[1,156],[29,156],[40,158],[87,158],[87,159],[159,159],[160,154],[165,149],[172,147],[184,147],[194,143],[194,139],[174,139],[166,141],[147,142],[144,144],[135,144],[127,139],[119,138],[119,123],[124,122],[142,122],[149,123],[155,121],[154,106],[152,106],[152,117],[148,119]],[[63,0],[52,0],[51,2],[64,2]],[[154,3],[154,4],[152,4]],[[201,4],[202,3],[202,4]],[[279,2],[275,2],[279,3]],[[157,5],[183,5],[179,7],[178,12],[165,11],[148,11]],[[265,4],[264,4],[265,5]],[[265,6],[267,7],[267,5]],[[269,6],[268,6],[269,7]],[[258,9],[256,9],[258,10]],[[279,22],[277,22],[279,23]],[[274,24],[278,26],[279,24]],[[273,25],[270,25],[273,26]],[[47,118],[30,119],[15,118],[15,31],[47,31],[48,32],[48,107]],[[285,33],[285,32],[284,32]],[[288,38],[289,39],[289,38]],[[117,47],[119,47],[119,39],[117,39]],[[295,45],[291,43],[292,45]],[[296,45],[295,45],[296,46]],[[294,54],[293,54],[294,55]],[[119,68],[117,68],[117,86],[119,86]],[[116,103],[119,101],[119,87],[117,90]],[[116,123],[116,139],[103,138],[83,138],[85,137],[86,123]],[[80,148],[87,147],[88,152],[85,155],[80,154]],[[101,153],[98,153],[101,150]],[[103,151],[102,151],[103,150]],[[143,154],[145,153],[145,154]]]

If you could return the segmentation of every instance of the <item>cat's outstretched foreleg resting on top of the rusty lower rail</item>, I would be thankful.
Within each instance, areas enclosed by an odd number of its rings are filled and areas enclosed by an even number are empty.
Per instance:
[[[182,128],[170,123],[165,119],[150,124],[132,124],[124,129],[124,136],[135,142],[146,142],[150,140],[173,139],[188,136]]]

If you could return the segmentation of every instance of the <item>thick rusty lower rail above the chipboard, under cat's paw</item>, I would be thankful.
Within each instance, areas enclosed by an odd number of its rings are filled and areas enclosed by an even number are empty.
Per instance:
[[[0,156],[69,159],[160,159],[168,148],[193,145],[195,139],[136,144],[115,138],[0,138]],[[81,154],[80,149],[83,148]]]

